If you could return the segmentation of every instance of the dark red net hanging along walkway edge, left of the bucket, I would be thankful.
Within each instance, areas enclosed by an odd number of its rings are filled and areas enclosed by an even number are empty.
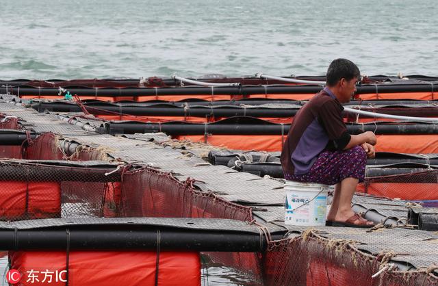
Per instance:
[[[231,218],[250,220],[248,207],[200,192],[191,180],[181,183],[172,174],[151,168],[123,174],[122,205],[125,216],[164,218]]]

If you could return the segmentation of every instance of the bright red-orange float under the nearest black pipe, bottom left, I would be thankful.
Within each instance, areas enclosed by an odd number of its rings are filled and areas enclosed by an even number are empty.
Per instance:
[[[16,251],[9,257],[19,285],[201,285],[198,252]]]

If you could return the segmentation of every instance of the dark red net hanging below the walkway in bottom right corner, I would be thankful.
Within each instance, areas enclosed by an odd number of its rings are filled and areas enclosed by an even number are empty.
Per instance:
[[[265,285],[437,285],[432,269],[396,271],[390,257],[374,257],[358,251],[355,242],[306,231],[270,242],[263,261]]]

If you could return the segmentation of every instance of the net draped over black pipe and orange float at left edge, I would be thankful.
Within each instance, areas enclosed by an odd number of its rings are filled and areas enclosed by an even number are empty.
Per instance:
[[[120,174],[105,175],[114,168],[0,161],[0,218],[116,216]]]

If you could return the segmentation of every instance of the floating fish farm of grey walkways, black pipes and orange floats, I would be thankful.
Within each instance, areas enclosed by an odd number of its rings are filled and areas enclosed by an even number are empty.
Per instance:
[[[378,138],[352,200],[376,226],[285,224],[281,148],[324,81],[0,80],[8,268],[19,285],[201,285],[208,257],[255,285],[438,285],[438,77],[364,77],[344,105],[351,134]]]

